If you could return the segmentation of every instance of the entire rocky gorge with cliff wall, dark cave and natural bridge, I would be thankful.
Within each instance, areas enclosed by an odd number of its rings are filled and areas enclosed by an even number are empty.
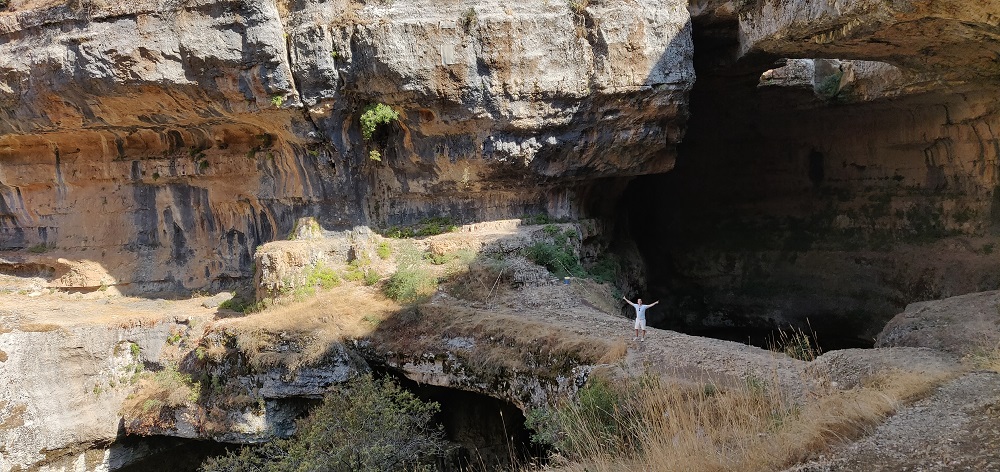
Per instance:
[[[0,0],[0,469],[285,437],[375,367],[456,411],[663,359],[810,392],[666,330],[872,347],[1000,288],[998,77],[987,0]],[[410,253],[440,285],[385,299]],[[197,401],[128,414],[160,372]]]

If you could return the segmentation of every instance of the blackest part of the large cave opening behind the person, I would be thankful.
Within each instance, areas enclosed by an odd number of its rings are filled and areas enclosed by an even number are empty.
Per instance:
[[[883,274],[838,272],[837,251],[874,244],[830,230],[847,193],[817,129],[850,114],[811,88],[758,88],[777,58],[720,61],[736,57],[735,31],[730,20],[694,19],[698,80],[676,166],[633,179],[619,201],[619,236],[646,271],[640,296],[660,300],[648,322],[765,348],[790,330],[824,351],[872,347],[912,299]]]

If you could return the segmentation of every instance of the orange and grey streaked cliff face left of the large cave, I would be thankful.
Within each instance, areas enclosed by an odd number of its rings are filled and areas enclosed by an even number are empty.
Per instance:
[[[246,278],[301,216],[579,214],[595,179],[670,169],[694,81],[676,0],[8,10],[0,250],[133,292]],[[375,103],[400,118],[365,140]]]

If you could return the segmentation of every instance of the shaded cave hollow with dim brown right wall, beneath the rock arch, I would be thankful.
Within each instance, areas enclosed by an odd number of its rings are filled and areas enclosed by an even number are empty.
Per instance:
[[[721,26],[694,25],[698,81],[676,167],[633,180],[618,207],[644,260],[643,298],[661,300],[654,326],[757,343],[808,320],[823,347],[870,345],[910,302],[1000,284],[981,204],[991,180],[948,164],[991,172],[980,162],[996,140],[965,145],[950,118],[989,87],[868,103],[758,87],[780,63],[720,64],[736,45]]]

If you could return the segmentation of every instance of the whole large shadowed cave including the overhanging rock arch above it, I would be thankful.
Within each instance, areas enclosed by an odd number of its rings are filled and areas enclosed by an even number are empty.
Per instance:
[[[662,326],[808,319],[870,345],[912,301],[995,289],[1000,7],[745,5],[694,18],[710,55],[677,166],[624,200]]]

